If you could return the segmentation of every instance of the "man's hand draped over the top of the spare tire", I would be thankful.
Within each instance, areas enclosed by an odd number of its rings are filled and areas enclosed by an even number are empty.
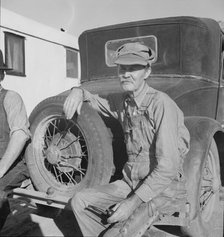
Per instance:
[[[75,112],[80,114],[83,103],[83,90],[74,87],[66,98],[63,110],[67,119],[71,119]]]

